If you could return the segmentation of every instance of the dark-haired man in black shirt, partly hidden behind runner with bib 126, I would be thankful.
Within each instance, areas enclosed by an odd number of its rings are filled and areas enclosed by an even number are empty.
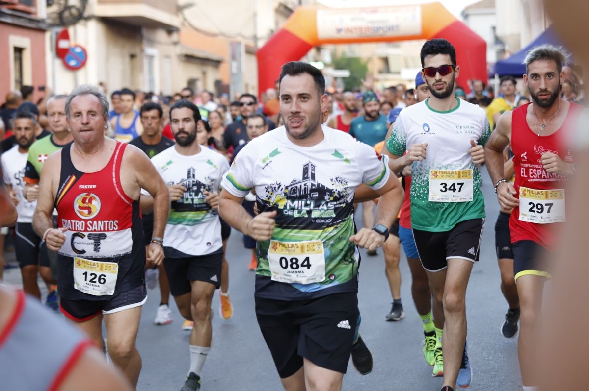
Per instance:
[[[141,126],[143,134],[138,138],[131,140],[129,143],[145,152],[148,158],[170,148],[174,142],[161,136],[161,122],[163,119],[163,109],[157,103],[145,103],[141,106]],[[153,213],[141,213],[143,215],[143,235],[145,250],[147,251],[151,242],[153,233]],[[145,283],[147,288],[153,289],[160,283],[160,305],[155,312],[154,323],[156,325],[169,325],[172,323],[172,311],[170,310],[170,285],[166,277],[163,263],[153,265],[145,260]]]

